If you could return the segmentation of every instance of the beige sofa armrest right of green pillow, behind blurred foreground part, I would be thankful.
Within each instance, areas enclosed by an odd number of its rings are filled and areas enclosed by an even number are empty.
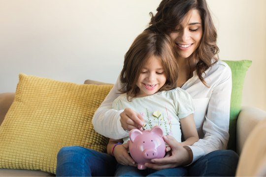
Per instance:
[[[259,121],[266,118],[266,112],[255,107],[243,106],[236,123],[236,152],[240,155],[243,145]]]

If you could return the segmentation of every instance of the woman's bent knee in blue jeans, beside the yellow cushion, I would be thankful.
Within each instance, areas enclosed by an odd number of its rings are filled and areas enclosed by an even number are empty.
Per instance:
[[[117,161],[107,153],[72,146],[57,154],[56,177],[113,177]]]

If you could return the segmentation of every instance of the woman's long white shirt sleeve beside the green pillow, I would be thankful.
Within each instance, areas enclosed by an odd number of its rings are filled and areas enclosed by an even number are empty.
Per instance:
[[[219,77],[219,82],[213,87],[203,123],[203,139],[192,146],[184,146],[193,151],[192,163],[212,151],[227,149],[232,92],[232,72],[228,65]]]

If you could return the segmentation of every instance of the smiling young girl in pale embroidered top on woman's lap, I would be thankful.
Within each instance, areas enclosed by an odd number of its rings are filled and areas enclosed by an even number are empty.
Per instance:
[[[191,146],[199,140],[193,118],[194,104],[186,91],[176,88],[178,66],[174,51],[173,42],[165,34],[144,31],[137,36],[125,55],[121,72],[124,87],[120,92],[124,94],[114,100],[113,109],[131,109],[139,113],[146,128],[160,125],[164,135],[170,135],[180,143],[182,129],[185,141],[181,145]],[[179,173],[177,169],[138,170],[128,154],[129,140],[128,136],[123,140],[109,140],[107,153],[114,155],[119,163],[115,177],[129,174],[171,177]]]

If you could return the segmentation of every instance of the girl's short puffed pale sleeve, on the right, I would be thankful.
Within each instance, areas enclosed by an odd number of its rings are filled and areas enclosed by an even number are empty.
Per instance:
[[[195,112],[195,106],[190,94],[183,89],[176,89],[177,117],[185,118]]]

